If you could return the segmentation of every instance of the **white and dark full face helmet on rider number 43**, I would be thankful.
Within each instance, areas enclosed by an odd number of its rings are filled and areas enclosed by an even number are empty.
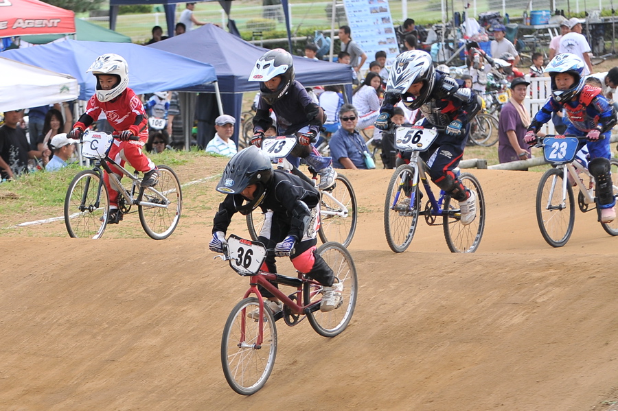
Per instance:
[[[281,82],[277,90],[271,91],[264,82],[271,80],[279,75]],[[294,62],[292,55],[284,49],[273,49],[267,51],[264,56],[258,58],[255,67],[249,75],[250,82],[260,82],[260,93],[266,103],[271,106],[283,97],[294,81]]]

